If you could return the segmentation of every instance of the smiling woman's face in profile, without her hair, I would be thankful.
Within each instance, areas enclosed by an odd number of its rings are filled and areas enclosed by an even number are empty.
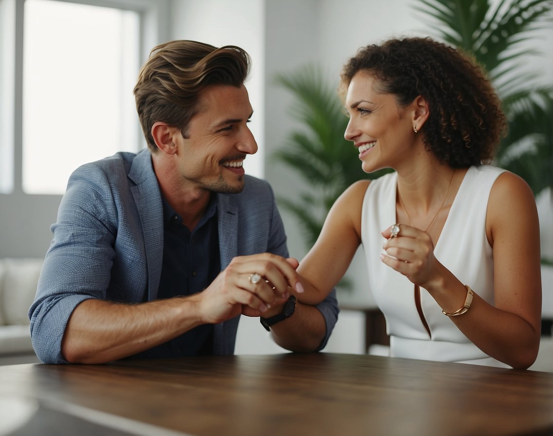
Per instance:
[[[399,106],[394,94],[378,90],[378,79],[359,71],[346,94],[349,122],[344,137],[359,150],[365,172],[397,169],[409,157],[415,139],[410,107]]]

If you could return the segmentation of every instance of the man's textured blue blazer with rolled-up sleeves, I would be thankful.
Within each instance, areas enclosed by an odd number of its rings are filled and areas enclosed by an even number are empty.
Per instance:
[[[221,270],[235,256],[269,252],[288,257],[272,188],[266,181],[245,177],[241,193],[217,195]],[[71,175],[29,309],[33,347],[41,361],[67,363],[61,340],[82,301],[156,299],[163,225],[161,194],[148,150],[117,153]],[[317,307],[326,321],[322,349],[338,315],[335,291]],[[234,352],[239,318],[214,326],[215,354]]]

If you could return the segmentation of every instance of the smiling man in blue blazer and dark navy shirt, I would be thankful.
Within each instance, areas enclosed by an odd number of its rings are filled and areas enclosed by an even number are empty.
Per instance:
[[[284,348],[326,344],[336,298],[295,304],[273,192],[244,175],[249,65],[236,46],[152,50],[134,88],[148,150],[77,169],[52,227],[29,309],[42,361],[232,354],[242,313]]]

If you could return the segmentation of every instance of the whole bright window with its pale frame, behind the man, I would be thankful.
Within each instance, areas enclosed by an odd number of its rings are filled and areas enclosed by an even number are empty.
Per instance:
[[[0,86],[12,94],[0,103],[0,192],[62,194],[77,166],[145,146],[132,91],[166,39],[164,10],[155,0],[0,0]]]

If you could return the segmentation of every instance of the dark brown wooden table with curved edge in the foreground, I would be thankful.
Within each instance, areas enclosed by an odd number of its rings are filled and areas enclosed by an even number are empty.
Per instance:
[[[2,366],[0,398],[39,406],[14,436],[553,434],[552,373],[369,355]]]

